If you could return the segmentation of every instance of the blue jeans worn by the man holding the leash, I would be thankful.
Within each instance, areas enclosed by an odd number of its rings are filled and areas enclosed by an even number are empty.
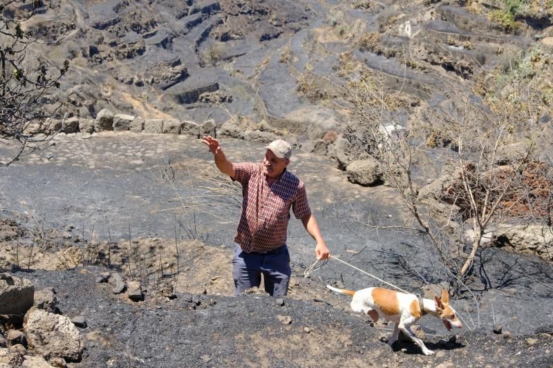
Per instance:
[[[271,296],[285,296],[292,273],[288,247],[283,245],[269,253],[246,253],[236,245],[232,258],[234,295],[237,296],[252,287],[259,287],[262,273],[265,291]]]

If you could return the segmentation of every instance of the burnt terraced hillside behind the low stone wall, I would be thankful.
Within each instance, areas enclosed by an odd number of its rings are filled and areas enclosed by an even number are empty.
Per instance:
[[[508,15],[503,8],[501,1],[62,0],[26,26],[58,41],[35,50],[39,59],[71,61],[57,95],[69,116],[94,119],[110,108],[218,126],[265,121],[312,140],[350,119],[340,87],[352,65],[392,77],[388,84],[416,106],[442,93],[444,81],[478,86],[483,75],[526,63],[550,99],[551,3],[534,1],[510,23],[497,15]]]

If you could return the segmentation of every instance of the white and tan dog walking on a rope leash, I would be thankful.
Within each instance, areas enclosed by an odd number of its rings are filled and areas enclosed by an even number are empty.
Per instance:
[[[326,287],[337,293],[352,296],[351,309],[368,314],[373,319],[373,322],[376,322],[379,317],[394,322],[395,327],[391,338],[388,339],[388,345],[392,345],[397,341],[400,331],[403,331],[406,336],[409,336],[422,349],[422,354],[427,356],[434,354],[433,351],[424,345],[424,342],[420,338],[415,336],[415,333],[410,328],[425,314],[440,318],[444,322],[447,331],[451,331],[451,326],[462,328],[455,309],[449,305],[447,290],[442,291],[442,298],[435,296],[434,300],[431,300],[381,287],[369,287],[359,291],[337,289],[330,285],[326,285]]]

